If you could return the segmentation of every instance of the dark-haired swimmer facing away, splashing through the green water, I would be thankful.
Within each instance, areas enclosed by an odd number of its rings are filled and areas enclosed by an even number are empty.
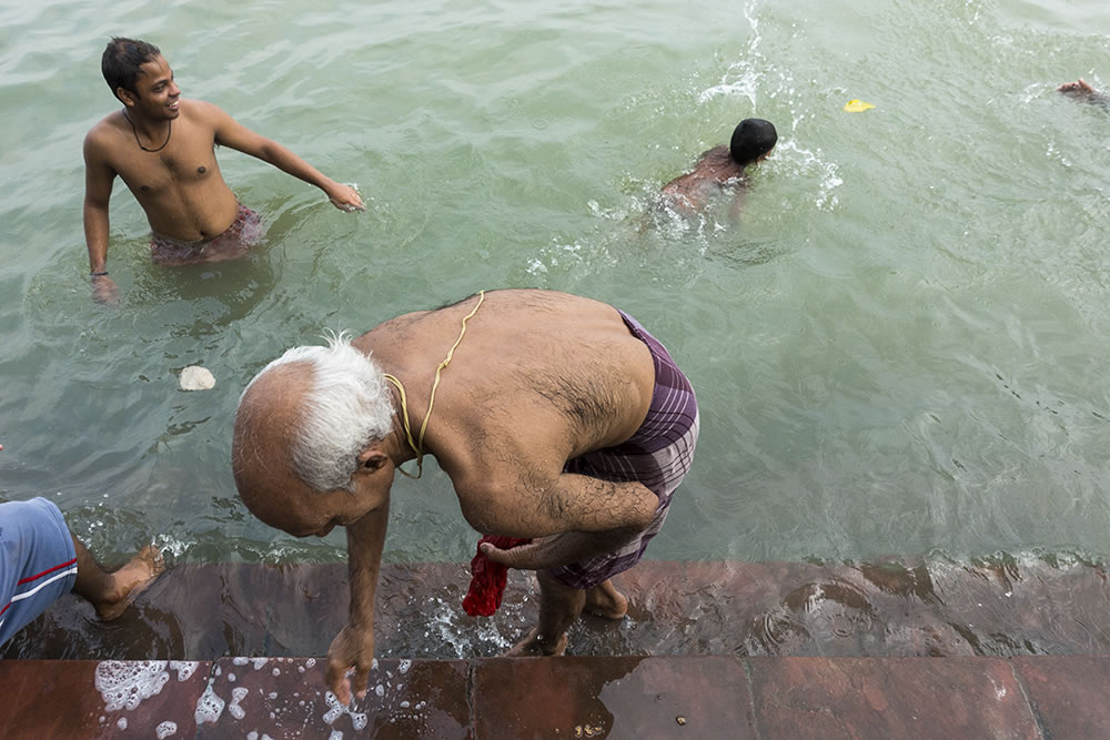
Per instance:
[[[769,121],[744,119],[733,131],[728,146],[720,144],[702,154],[694,170],[663,186],[662,201],[668,207],[692,216],[725,187],[736,186],[730,215],[737,221],[744,204],[745,168],[763,162],[778,141]]]

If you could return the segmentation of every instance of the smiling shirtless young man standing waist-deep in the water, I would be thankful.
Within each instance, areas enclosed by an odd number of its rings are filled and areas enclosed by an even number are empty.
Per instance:
[[[327,178],[278,142],[249,130],[211,103],[185,100],[165,58],[145,41],[113,38],[101,70],[123,103],[84,139],[84,239],[93,297],[114,303],[108,276],[108,204],[123,180],[147,212],[151,256],[183,265],[241,256],[262,236],[256,213],[220,174],[215,145],[256,156],[316,185],[342,211],[362,210],[352,187]]]

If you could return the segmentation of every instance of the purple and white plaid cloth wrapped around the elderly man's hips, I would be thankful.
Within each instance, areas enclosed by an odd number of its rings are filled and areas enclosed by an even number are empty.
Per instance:
[[[655,392],[644,423],[627,440],[596,449],[567,460],[564,472],[602,480],[644,484],[659,505],[652,524],[619,550],[604,553],[588,560],[553,568],[547,572],[573,588],[593,588],[607,578],[633,567],[644,556],[670,508],[670,497],[689,473],[697,445],[697,399],[689,381],[678,369],[666,347],[647,333],[639,322],[618,311],[633,336],[647,345],[655,363]]]

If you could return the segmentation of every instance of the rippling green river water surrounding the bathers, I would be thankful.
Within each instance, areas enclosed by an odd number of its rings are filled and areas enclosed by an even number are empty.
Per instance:
[[[123,297],[94,304],[81,143],[112,34],[365,213],[221,150],[265,242],[168,270],[117,182]],[[1110,89],[1101,0],[0,2],[0,498],[48,496],[104,556],[339,560],[341,533],[240,503],[243,385],[325,327],[536,286],[632,313],[698,392],[649,557],[1101,560],[1110,114],[1054,91],[1080,75]],[[749,115],[780,138],[739,225],[653,215]],[[213,391],[178,389],[194,364]],[[474,539],[434,465],[398,478],[389,560]]]

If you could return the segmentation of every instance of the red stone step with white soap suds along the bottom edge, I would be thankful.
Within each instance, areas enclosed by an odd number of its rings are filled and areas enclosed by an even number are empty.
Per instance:
[[[4,738],[1104,738],[1110,658],[0,661]]]

